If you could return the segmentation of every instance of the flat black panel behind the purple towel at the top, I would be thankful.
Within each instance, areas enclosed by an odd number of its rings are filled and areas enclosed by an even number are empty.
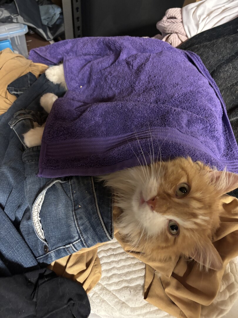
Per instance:
[[[149,36],[169,8],[183,0],[81,0],[83,36]]]

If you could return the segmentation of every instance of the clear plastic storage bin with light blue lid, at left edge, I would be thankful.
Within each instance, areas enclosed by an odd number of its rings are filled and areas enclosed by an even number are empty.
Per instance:
[[[13,51],[27,58],[28,51],[25,38],[27,32],[28,27],[25,24],[0,23],[0,47],[2,41],[10,40]],[[8,47],[10,47],[10,45]]]

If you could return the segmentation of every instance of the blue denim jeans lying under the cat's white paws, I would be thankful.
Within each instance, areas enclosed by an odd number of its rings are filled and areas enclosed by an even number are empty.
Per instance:
[[[40,147],[27,148],[23,134],[46,120],[48,92],[64,93],[41,75],[0,116],[0,275],[113,238],[111,194],[95,177],[37,176]]]

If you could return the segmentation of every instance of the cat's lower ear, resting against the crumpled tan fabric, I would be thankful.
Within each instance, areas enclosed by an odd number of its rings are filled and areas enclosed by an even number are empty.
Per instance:
[[[223,266],[221,256],[209,239],[200,240],[190,256],[200,264],[200,268],[205,266],[206,270],[208,268],[220,270]]]

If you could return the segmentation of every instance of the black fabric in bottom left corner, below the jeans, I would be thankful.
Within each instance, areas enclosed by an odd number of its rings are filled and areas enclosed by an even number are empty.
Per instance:
[[[87,318],[89,314],[83,287],[49,269],[0,278],[2,318]]]

